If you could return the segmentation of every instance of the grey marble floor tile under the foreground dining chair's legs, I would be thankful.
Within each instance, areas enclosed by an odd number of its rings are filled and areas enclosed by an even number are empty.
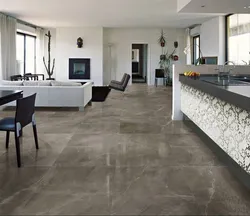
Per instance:
[[[0,147],[0,169],[4,167],[16,168],[17,166],[16,148],[13,136],[14,135],[12,134],[10,137],[8,150],[5,149],[5,145]],[[39,150],[36,150],[33,134],[24,134],[24,136],[20,139],[23,166],[53,166],[65,146],[67,146],[71,136],[71,134],[40,133],[38,135]],[[4,139],[2,142],[4,142]]]

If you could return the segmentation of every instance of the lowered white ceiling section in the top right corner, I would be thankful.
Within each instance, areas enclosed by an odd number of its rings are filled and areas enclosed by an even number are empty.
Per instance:
[[[250,13],[248,6],[250,0],[189,0],[178,9],[183,13]]]

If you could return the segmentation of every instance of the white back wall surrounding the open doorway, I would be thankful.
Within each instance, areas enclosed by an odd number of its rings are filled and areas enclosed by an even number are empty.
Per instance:
[[[157,43],[160,36],[160,28],[107,28],[104,30],[106,47],[112,44],[111,59],[108,48],[104,52],[104,76],[111,79],[120,80],[124,73],[132,74],[132,44],[148,44],[148,84],[154,84],[155,69],[159,68],[159,58],[162,53],[161,47]],[[174,48],[174,41],[179,42],[176,54],[180,57],[180,62],[185,63],[183,53],[185,46],[184,29],[164,29],[167,38],[167,47],[171,52]],[[109,80],[106,80],[109,82]]]

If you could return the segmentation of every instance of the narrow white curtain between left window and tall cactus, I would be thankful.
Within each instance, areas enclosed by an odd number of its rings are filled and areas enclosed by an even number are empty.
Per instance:
[[[45,32],[42,28],[36,29],[36,73],[45,74],[43,64],[44,57]]]

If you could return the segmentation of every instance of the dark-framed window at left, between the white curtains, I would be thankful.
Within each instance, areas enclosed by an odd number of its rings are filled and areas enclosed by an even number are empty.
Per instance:
[[[36,65],[36,37],[24,33],[17,33],[17,70],[19,74],[35,73]]]

